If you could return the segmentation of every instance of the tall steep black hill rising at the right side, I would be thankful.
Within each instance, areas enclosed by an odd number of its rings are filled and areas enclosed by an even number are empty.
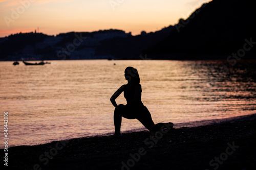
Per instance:
[[[255,22],[253,1],[214,0],[187,19],[180,19],[168,37],[144,53],[155,58],[162,54],[170,59],[186,55],[231,55],[243,48],[245,39],[256,42]],[[246,53],[252,54],[255,48]]]

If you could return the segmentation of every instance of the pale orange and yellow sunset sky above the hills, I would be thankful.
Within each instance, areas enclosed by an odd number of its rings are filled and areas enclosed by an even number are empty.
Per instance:
[[[174,25],[209,0],[0,0],[0,37],[119,29],[132,35]]]

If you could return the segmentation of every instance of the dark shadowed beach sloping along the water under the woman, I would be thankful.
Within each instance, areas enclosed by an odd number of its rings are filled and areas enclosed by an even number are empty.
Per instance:
[[[8,149],[8,168],[255,169],[255,132],[253,114],[195,128],[18,146]]]

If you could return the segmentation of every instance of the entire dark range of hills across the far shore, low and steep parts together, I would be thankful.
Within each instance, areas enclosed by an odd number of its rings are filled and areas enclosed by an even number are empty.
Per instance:
[[[10,35],[0,38],[0,60],[141,59],[145,55],[149,59],[226,60],[230,55],[235,60],[253,59],[255,22],[253,1],[213,0],[175,26],[137,36],[113,29]]]

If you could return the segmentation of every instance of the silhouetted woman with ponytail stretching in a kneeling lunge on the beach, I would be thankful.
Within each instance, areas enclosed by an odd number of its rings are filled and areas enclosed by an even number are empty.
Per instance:
[[[141,85],[140,77],[137,69],[133,67],[127,67],[124,70],[124,77],[127,80],[127,84],[122,85],[110,98],[111,103],[115,107],[114,111],[114,125],[115,135],[120,134],[122,117],[128,119],[138,119],[144,127],[150,131],[161,130],[165,127],[173,127],[173,123],[158,123],[154,124],[150,112],[141,102]],[[116,98],[123,92],[126,99],[126,105],[117,105]]]

